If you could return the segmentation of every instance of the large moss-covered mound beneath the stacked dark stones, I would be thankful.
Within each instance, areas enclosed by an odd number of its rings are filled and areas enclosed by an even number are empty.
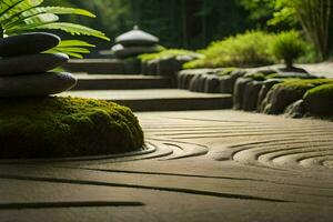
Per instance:
[[[140,150],[130,109],[73,98],[0,100],[0,159],[100,155]]]

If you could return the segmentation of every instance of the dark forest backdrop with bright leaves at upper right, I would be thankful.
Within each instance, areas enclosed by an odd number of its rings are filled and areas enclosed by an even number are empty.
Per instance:
[[[68,17],[72,22],[103,30],[114,38],[139,24],[158,36],[167,48],[203,49],[212,41],[244,33],[248,30],[303,32],[320,59],[332,54],[332,23],[313,18],[332,14],[333,0],[46,0],[50,4],[84,8],[98,18]],[[309,7],[310,6],[310,7]],[[330,9],[330,10],[329,10]],[[94,42],[108,49],[113,42]],[[331,50],[330,50],[331,49]]]

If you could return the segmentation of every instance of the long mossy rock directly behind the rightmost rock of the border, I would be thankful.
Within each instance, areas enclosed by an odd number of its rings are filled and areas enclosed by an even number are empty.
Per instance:
[[[290,80],[275,84],[263,102],[263,112],[268,114],[283,113],[285,108],[301,100],[304,93],[317,85],[330,83],[330,79]]]

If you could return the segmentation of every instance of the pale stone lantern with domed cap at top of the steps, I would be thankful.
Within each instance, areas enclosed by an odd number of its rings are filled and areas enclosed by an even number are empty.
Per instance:
[[[137,57],[142,53],[154,53],[160,51],[159,38],[139,29],[138,26],[132,31],[115,38],[117,44],[111,51],[119,59]]]

